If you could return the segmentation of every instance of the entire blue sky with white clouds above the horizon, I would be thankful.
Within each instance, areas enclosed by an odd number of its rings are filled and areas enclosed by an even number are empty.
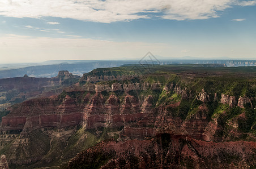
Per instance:
[[[256,59],[256,1],[2,0],[1,63]]]

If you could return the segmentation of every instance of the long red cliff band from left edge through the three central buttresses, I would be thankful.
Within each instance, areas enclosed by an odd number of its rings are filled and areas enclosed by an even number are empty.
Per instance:
[[[2,118],[1,131],[23,130],[28,132],[42,127],[67,127],[83,123],[86,128],[121,127],[144,117],[150,109],[152,97],[143,103],[126,95],[122,103],[114,96],[103,97],[100,92],[86,95],[84,104],[69,95],[59,100],[57,96],[25,101],[10,108],[10,114]],[[143,112],[141,108],[143,105]]]

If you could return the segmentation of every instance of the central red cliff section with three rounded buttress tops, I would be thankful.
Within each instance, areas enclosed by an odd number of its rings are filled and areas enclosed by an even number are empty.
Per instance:
[[[101,94],[96,93],[89,102],[82,111],[86,128],[121,127],[124,123],[138,121],[144,117],[138,100],[133,96],[125,96],[120,103],[114,95],[105,100]]]

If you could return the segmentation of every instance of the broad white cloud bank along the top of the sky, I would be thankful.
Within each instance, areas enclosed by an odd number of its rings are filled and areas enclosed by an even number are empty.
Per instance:
[[[194,20],[219,17],[218,12],[233,6],[256,5],[238,0],[22,0],[0,1],[0,15],[9,17],[44,16],[112,23],[140,18],[162,17]],[[59,24],[48,22],[48,24]]]

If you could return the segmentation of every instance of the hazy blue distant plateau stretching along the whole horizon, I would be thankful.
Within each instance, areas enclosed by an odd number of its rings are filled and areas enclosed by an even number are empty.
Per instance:
[[[199,57],[184,56],[180,59],[159,56],[145,56],[139,60],[50,60],[36,64],[0,65],[0,78],[22,77],[55,77],[59,71],[68,70],[72,74],[83,75],[96,68],[111,68],[127,64],[222,64],[224,66],[256,66],[255,60],[209,60]],[[2,68],[2,69],[1,69]]]

